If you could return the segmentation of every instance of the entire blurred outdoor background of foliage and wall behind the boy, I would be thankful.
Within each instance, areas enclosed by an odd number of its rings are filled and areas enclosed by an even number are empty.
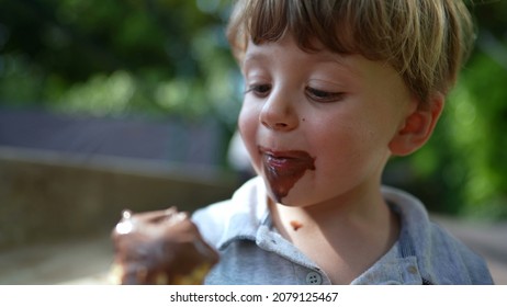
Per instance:
[[[502,271],[507,1],[466,2],[475,49],[433,137],[393,159],[384,182]],[[123,208],[193,211],[245,180],[228,156],[243,92],[229,11],[227,0],[0,0],[0,284],[103,272]]]

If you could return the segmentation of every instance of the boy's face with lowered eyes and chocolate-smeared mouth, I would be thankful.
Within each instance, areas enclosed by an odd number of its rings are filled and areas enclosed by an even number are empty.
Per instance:
[[[305,53],[288,35],[250,43],[241,68],[239,129],[273,200],[307,206],[379,190],[390,143],[415,105],[391,66]]]

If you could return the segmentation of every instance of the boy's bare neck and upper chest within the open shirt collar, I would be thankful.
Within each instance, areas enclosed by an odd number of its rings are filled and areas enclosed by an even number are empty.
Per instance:
[[[270,203],[273,224],[314,260],[334,283],[350,283],[394,245],[397,220],[380,191],[323,204],[290,207]],[[339,277],[338,277],[339,276]]]

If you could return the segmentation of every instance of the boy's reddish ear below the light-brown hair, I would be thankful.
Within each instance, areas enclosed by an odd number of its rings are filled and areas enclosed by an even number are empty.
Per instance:
[[[443,110],[444,96],[437,92],[431,96],[429,105],[417,106],[405,117],[388,147],[395,156],[407,156],[419,149],[431,136],[438,118]]]

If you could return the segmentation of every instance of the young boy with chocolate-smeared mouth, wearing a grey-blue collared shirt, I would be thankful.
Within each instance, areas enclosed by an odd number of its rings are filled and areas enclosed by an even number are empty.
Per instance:
[[[471,48],[462,1],[239,1],[238,127],[258,177],[193,215],[209,284],[492,284],[484,261],[381,185],[430,137]]]

